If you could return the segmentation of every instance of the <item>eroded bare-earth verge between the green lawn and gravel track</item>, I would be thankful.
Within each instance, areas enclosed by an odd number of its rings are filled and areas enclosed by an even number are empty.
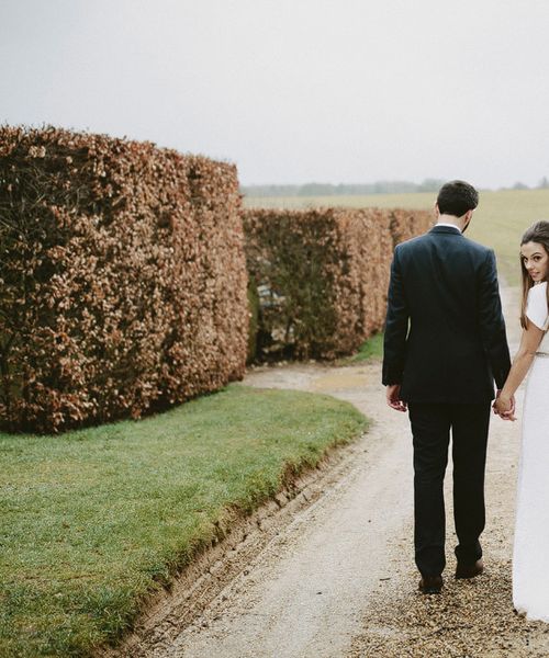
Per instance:
[[[250,514],[227,510],[212,544],[175,576],[168,587],[143,601],[132,628],[115,646],[102,645],[92,656],[152,656],[155,647],[170,644],[184,628],[199,622],[223,590],[238,576],[246,575],[249,563],[274,536],[354,469],[356,457],[368,452],[367,436],[373,424],[368,419],[366,431],[357,439],[328,446],[316,466],[304,466],[293,478],[285,478],[279,491]]]

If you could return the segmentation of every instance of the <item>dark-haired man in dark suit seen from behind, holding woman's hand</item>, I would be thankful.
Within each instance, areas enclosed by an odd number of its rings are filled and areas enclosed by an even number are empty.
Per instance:
[[[410,412],[414,442],[415,561],[424,593],[442,587],[442,483],[450,430],[453,515],[459,544],[456,578],[483,570],[484,467],[494,398],[511,368],[491,249],[463,237],[479,194],[446,183],[437,224],[399,245],[389,285],[383,384],[389,405]]]

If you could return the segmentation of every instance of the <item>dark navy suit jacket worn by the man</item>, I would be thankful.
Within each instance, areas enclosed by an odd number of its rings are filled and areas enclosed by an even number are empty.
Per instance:
[[[509,368],[494,252],[447,226],[399,245],[383,384],[408,402],[483,402]]]

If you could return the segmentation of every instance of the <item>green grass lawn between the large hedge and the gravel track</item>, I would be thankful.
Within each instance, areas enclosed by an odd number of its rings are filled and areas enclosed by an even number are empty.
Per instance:
[[[0,656],[86,656],[289,474],[366,427],[328,396],[224,390],[142,421],[0,434]]]

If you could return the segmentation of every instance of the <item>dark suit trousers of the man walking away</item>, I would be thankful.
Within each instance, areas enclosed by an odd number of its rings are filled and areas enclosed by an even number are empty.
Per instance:
[[[474,405],[408,404],[414,438],[414,545],[423,575],[442,572],[445,501],[442,483],[448,464],[450,429],[453,461],[453,520],[459,544],[456,556],[474,564],[482,556],[484,467],[490,401]]]

